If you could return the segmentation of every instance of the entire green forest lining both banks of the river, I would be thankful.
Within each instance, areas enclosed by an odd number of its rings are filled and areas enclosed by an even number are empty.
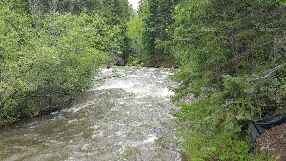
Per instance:
[[[286,112],[286,1],[138,3],[1,0],[1,125],[62,109],[102,66],[169,67],[187,160],[274,160],[249,153],[251,122]]]

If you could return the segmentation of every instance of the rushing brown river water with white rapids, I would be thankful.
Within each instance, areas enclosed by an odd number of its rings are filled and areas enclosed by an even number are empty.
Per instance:
[[[94,83],[66,112],[0,129],[0,160],[185,160],[163,68]],[[111,69],[102,69],[105,76]]]

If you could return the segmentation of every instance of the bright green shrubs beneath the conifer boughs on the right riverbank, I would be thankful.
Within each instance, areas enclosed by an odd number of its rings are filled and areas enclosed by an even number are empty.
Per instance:
[[[238,139],[237,134],[219,133],[220,127],[210,124],[208,107],[212,102],[201,102],[204,103],[182,104],[182,113],[176,115],[184,120],[183,126],[178,128],[178,142],[180,148],[187,151],[189,160],[271,160],[266,153],[248,154],[249,136],[243,140]],[[219,117],[227,118],[220,114]]]

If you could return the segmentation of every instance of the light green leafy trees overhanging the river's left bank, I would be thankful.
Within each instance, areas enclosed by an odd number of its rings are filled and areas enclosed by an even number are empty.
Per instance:
[[[122,54],[122,29],[103,16],[49,12],[38,28],[29,15],[0,5],[1,120],[68,101],[90,85],[99,66]]]

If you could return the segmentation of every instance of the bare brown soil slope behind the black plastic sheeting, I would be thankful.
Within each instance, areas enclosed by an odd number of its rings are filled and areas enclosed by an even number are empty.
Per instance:
[[[286,160],[286,123],[266,130],[256,142],[258,150],[267,150],[269,143],[270,155],[277,161]]]

